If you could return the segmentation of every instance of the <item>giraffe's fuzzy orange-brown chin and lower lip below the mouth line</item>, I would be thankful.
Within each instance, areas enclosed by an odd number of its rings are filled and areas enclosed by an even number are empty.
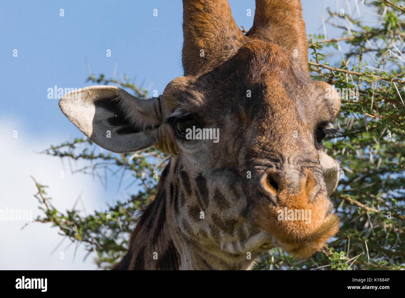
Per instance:
[[[310,236],[301,240],[277,240],[277,243],[288,254],[297,259],[310,257],[316,251],[320,251],[325,246],[329,237],[334,236],[339,231],[339,219],[334,214],[329,214],[323,224]]]

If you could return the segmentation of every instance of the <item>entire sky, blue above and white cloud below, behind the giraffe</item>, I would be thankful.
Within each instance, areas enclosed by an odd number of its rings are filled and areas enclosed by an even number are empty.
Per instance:
[[[230,0],[238,26],[249,30],[253,23],[254,0]],[[350,1],[352,10],[354,1]],[[361,3],[361,1],[359,1]],[[336,6],[336,4],[338,4]],[[327,0],[326,6],[345,8],[343,0]],[[64,9],[64,16],[60,16]],[[153,17],[153,9],[158,16]],[[252,10],[247,16],[246,10]],[[307,34],[322,33],[319,15],[323,1],[303,1]],[[30,175],[51,187],[55,206],[71,208],[83,191],[89,210],[105,206],[111,196],[121,198],[112,187],[102,190],[90,178],[71,175],[59,179],[60,160],[36,152],[83,134],[69,122],[58,107],[58,99],[48,99],[48,88],[83,88],[87,58],[92,73],[110,78],[115,62],[117,75],[145,80],[145,88],[161,94],[166,84],[183,75],[181,66],[182,3],[180,0],[148,1],[2,1],[0,3],[0,137],[4,158],[0,181],[9,186],[0,199],[0,208],[32,208],[38,214],[32,195],[36,189]],[[326,12],[323,13],[326,16]],[[339,31],[328,26],[328,37]],[[17,57],[13,50],[17,49]],[[111,57],[106,56],[111,49]],[[13,131],[18,138],[12,138]],[[80,164],[79,164],[80,165]],[[79,166],[77,165],[77,166]],[[4,269],[84,269],[95,268],[92,257],[59,264],[49,252],[60,241],[55,229],[34,224],[20,230],[23,223],[0,223],[0,233],[8,245],[0,249],[0,268]],[[27,250],[26,247],[36,247]],[[71,252],[73,249],[70,250]],[[4,258],[13,255],[19,262]],[[23,255],[23,257],[21,257]],[[58,255],[56,255],[58,259]],[[15,260],[15,259],[14,259]]]

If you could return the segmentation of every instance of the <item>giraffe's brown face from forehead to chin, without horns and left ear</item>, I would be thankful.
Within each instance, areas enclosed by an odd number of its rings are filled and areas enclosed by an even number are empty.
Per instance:
[[[233,254],[274,245],[307,257],[337,232],[328,193],[339,166],[321,142],[340,100],[320,83],[297,79],[277,45],[252,41],[168,84],[162,131],[176,148],[173,208],[185,236]]]

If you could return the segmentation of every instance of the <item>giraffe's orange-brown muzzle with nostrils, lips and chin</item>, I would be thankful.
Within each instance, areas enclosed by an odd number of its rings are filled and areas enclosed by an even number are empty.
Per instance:
[[[261,187],[269,200],[262,200],[257,223],[294,257],[309,257],[338,232],[339,219],[330,213],[333,205],[324,182],[308,169],[271,169]]]

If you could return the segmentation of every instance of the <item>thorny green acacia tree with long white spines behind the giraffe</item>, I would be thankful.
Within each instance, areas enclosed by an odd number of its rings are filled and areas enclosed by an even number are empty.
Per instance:
[[[328,11],[329,17],[324,21],[341,29],[341,36],[335,39],[309,36],[311,76],[335,86],[341,95],[341,112],[336,123],[341,133],[327,137],[324,148],[341,166],[339,186],[332,199],[342,225],[327,247],[313,257],[297,261],[276,248],[261,257],[255,269],[405,268],[405,8],[400,5],[403,2],[382,0],[362,4],[378,15],[377,25],[372,27],[360,20],[357,1],[354,13]],[[339,62],[331,66],[325,54],[330,54],[330,61]],[[147,90],[130,84],[128,79],[115,81],[104,75],[98,78],[90,75],[87,81],[115,84],[135,96],[147,96]],[[85,148],[81,149],[83,144]],[[38,188],[35,197],[44,213],[36,221],[52,223],[71,242],[82,242],[88,255],[94,253],[99,268],[111,268],[125,254],[130,232],[156,195],[166,154],[153,148],[106,154],[83,138],[51,146],[44,152],[62,159],[86,161],[88,166],[77,172],[92,174],[102,183],[109,176],[120,175],[121,180],[132,178],[129,186],[138,185],[136,194],[124,202],[108,205],[107,212],[82,216],[75,207],[65,212],[57,210],[47,197],[46,186],[34,180]]]

